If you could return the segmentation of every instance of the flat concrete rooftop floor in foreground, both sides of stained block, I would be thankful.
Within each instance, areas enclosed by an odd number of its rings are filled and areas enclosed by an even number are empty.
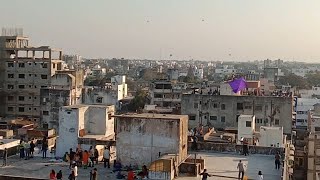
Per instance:
[[[192,154],[193,152],[190,152]],[[38,154],[37,156],[40,156]],[[232,176],[237,177],[237,163],[241,159],[244,164],[247,165],[245,175],[249,179],[256,179],[258,171],[262,171],[264,174],[264,180],[278,180],[281,177],[281,170],[274,169],[274,157],[268,155],[250,155],[241,156],[229,153],[206,153],[198,152],[197,157],[205,159],[205,168],[213,175]],[[62,170],[64,178],[67,178],[70,170],[68,169],[68,163],[50,163],[50,158],[42,159],[41,157],[35,157],[30,160],[20,160],[18,156],[10,157],[8,159],[7,167],[0,167],[0,174],[25,176],[34,178],[48,178],[51,169],[56,172]],[[2,162],[0,162],[2,163]],[[96,166],[98,169],[98,179],[116,179],[115,174],[110,170],[103,167],[103,163]],[[78,169],[78,179],[89,179],[89,172],[91,168]],[[201,177],[179,177],[177,179],[185,180],[199,180]],[[223,180],[227,178],[210,177],[212,180]]]

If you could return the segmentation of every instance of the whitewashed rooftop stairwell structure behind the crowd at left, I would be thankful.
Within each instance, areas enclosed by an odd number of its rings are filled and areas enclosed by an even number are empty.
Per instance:
[[[57,156],[62,156],[69,148],[76,149],[79,130],[88,135],[114,134],[114,106],[73,105],[61,107],[59,111],[59,137]]]

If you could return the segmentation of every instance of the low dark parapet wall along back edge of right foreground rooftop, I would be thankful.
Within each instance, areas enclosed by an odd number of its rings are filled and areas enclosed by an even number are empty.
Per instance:
[[[191,149],[192,142],[188,143],[188,150]],[[213,142],[198,142],[198,150],[212,151],[212,152],[233,152],[240,153],[242,151],[242,145],[227,144],[227,143],[213,143]],[[251,146],[249,145],[250,154],[266,154],[273,155],[279,152],[283,153],[283,148],[276,147],[263,147],[263,146]]]

